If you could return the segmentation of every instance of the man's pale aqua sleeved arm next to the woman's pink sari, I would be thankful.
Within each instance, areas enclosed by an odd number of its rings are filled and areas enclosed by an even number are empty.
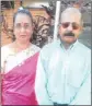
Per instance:
[[[38,62],[37,62],[37,70],[36,70],[36,79],[35,79],[35,93],[36,98],[38,102],[38,105],[53,105],[53,102],[50,101],[46,83],[47,83],[47,76],[46,76],[46,69],[45,64],[43,64],[42,57],[39,55]]]

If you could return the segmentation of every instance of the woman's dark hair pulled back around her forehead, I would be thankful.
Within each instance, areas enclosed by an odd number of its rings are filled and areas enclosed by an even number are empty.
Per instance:
[[[20,14],[20,13],[26,14],[27,16],[30,16],[30,17],[31,17],[31,22],[32,22],[32,24],[33,24],[33,17],[32,17],[31,12],[30,12],[27,9],[23,9],[23,8],[20,8],[20,9],[14,13],[14,15],[13,15],[13,24],[14,24],[14,22],[15,22],[16,15]],[[14,34],[13,34],[12,40],[15,40]]]

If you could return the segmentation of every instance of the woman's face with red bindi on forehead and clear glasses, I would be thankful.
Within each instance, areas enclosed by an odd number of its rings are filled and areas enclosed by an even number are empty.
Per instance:
[[[33,24],[31,17],[26,14],[19,13],[14,21],[15,40],[30,42],[33,34]]]

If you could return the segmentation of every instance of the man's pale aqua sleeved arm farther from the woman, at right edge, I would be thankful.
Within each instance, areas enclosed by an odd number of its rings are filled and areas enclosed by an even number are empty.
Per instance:
[[[91,55],[88,55],[84,80],[70,105],[91,105]]]

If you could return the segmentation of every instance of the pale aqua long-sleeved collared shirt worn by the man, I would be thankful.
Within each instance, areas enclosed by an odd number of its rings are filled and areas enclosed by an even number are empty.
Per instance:
[[[60,40],[46,45],[38,58],[35,92],[39,105],[90,105],[91,50],[78,40],[68,50]]]

